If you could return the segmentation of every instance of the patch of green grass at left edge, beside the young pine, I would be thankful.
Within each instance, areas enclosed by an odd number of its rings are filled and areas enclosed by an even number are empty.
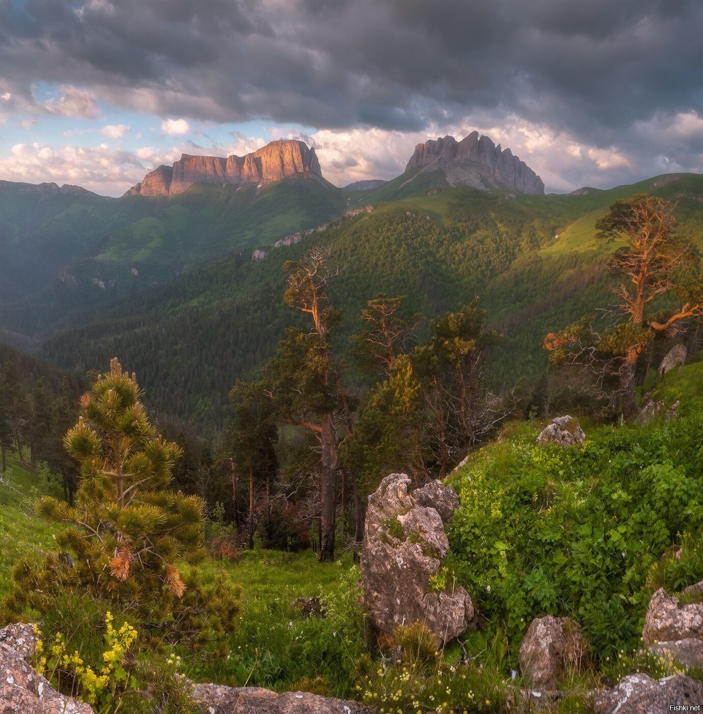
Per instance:
[[[0,482],[0,599],[11,589],[14,565],[27,557],[39,562],[44,553],[54,550],[54,537],[61,530],[34,516],[41,496],[61,496],[58,484],[26,471],[16,454],[7,461]]]

